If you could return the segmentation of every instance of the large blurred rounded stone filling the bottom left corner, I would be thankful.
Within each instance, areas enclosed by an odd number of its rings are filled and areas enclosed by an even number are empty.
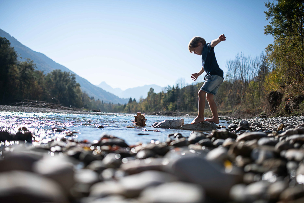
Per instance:
[[[67,197],[55,181],[26,171],[0,173],[1,203],[67,203]]]

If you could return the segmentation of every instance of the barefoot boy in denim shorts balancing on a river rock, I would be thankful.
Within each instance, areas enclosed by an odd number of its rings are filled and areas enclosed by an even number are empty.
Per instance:
[[[219,38],[212,40],[211,43],[207,43],[202,37],[193,37],[188,45],[189,51],[197,55],[202,55],[202,69],[198,73],[193,73],[191,78],[195,81],[199,75],[206,71],[205,82],[198,92],[199,95],[199,114],[191,122],[196,124],[203,121],[210,121],[213,123],[219,123],[219,117],[217,115],[217,107],[213,100],[213,96],[217,93],[219,85],[223,82],[224,72],[219,68],[217,64],[214,47],[221,41],[225,41],[226,37],[224,34],[220,35]],[[212,118],[204,119],[205,110],[205,95],[209,103],[210,110],[212,112]]]

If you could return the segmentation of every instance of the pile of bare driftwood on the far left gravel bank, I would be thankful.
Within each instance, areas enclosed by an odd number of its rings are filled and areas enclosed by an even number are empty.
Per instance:
[[[48,103],[45,101],[38,101],[38,100],[22,100],[21,102],[11,103],[10,105],[22,106],[22,107],[60,109],[60,110],[82,110],[82,109],[76,108],[72,105],[70,105],[70,107],[64,107],[64,106],[62,106],[62,104]]]

